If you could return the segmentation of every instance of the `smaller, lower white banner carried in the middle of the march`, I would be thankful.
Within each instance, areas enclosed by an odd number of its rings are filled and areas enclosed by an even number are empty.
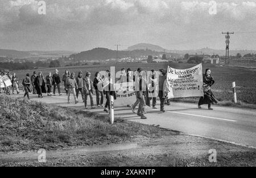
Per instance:
[[[136,101],[133,82],[114,84],[114,88],[117,91],[114,106],[132,105]]]

